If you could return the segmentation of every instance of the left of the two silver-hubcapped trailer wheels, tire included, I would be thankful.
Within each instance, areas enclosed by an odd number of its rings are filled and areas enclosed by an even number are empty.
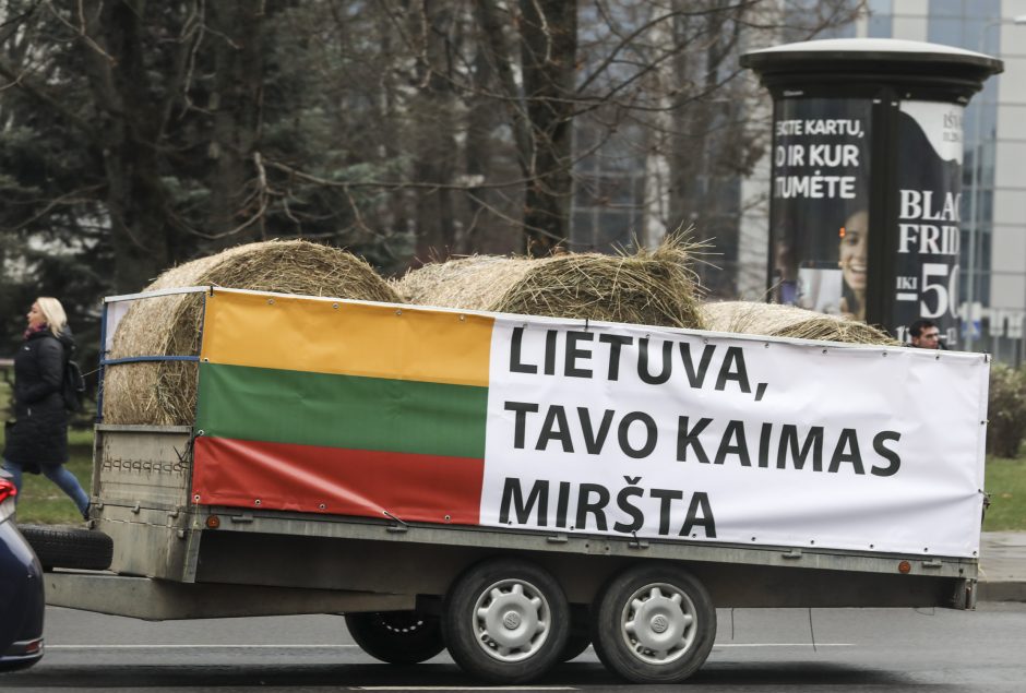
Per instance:
[[[470,567],[442,614],[449,654],[467,673],[502,684],[537,679],[560,661],[570,607],[547,571],[518,559]]]

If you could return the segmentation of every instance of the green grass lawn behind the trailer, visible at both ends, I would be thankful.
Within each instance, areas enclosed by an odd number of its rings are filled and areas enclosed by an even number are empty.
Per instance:
[[[0,411],[5,410],[9,393],[0,380]],[[0,433],[2,442],[2,433]],[[72,471],[82,488],[90,491],[92,481],[93,431],[72,430],[69,434]],[[1024,445],[1026,450],[1026,445]],[[983,522],[985,531],[1026,531],[1026,454],[1015,458],[987,458],[987,492],[990,509]],[[26,474],[19,499],[17,519],[26,524],[76,524],[82,519],[74,503],[43,476]]]

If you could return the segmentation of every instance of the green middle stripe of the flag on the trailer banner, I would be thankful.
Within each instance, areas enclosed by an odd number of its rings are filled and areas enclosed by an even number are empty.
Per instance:
[[[488,389],[200,365],[206,435],[449,457],[485,457]]]

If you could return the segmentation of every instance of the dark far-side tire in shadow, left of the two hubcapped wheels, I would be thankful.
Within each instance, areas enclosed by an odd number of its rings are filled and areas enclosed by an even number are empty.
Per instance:
[[[347,613],[349,635],[365,653],[392,665],[416,665],[445,649],[437,616],[419,611]]]

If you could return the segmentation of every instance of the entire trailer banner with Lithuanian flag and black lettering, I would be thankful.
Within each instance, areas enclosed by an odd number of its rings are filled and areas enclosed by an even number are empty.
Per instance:
[[[198,503],[978,550],[983,356],[226,289],[205,300]]]

